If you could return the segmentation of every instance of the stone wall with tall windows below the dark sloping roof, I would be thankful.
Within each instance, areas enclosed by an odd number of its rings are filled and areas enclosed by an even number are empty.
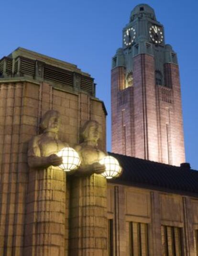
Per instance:
[[[148,252],[145,255],[164,255],[162,226],[179,228],[183,255],[197,255],[198,198],[108,183],[107,200],[108,219],[113,220],[115,227],[112,241],[115,255],[131,255],[130,223],[147,226]]]

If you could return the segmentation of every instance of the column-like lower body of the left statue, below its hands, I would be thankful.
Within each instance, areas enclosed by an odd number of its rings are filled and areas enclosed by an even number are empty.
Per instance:
[[[24,256],[64,256],[66,174],[30,169]]]

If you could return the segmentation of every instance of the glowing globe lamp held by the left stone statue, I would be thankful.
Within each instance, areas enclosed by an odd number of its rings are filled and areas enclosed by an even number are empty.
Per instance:
[[[79,167],[81,161],[77,151],[72,148],[66,147],[57,153],[57,156],[63,158],[63,163],[59,167],[65,172],[70,172]]]

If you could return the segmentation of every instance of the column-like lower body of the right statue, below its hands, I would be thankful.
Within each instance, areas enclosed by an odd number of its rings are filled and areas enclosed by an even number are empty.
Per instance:
[[[74,177],[71,187],[70,256],[107,256],[107,181]]]

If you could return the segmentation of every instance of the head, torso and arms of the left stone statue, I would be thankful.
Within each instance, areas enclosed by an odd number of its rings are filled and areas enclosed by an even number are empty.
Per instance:
[[[49,110],[44,114],[40,123],[42,133],[34,136],[29,143],[28,164],[31,168],[44,169],[62,163],[62,157],[55,153],[68,145],[58,140],[59,125],[58,111]]]

